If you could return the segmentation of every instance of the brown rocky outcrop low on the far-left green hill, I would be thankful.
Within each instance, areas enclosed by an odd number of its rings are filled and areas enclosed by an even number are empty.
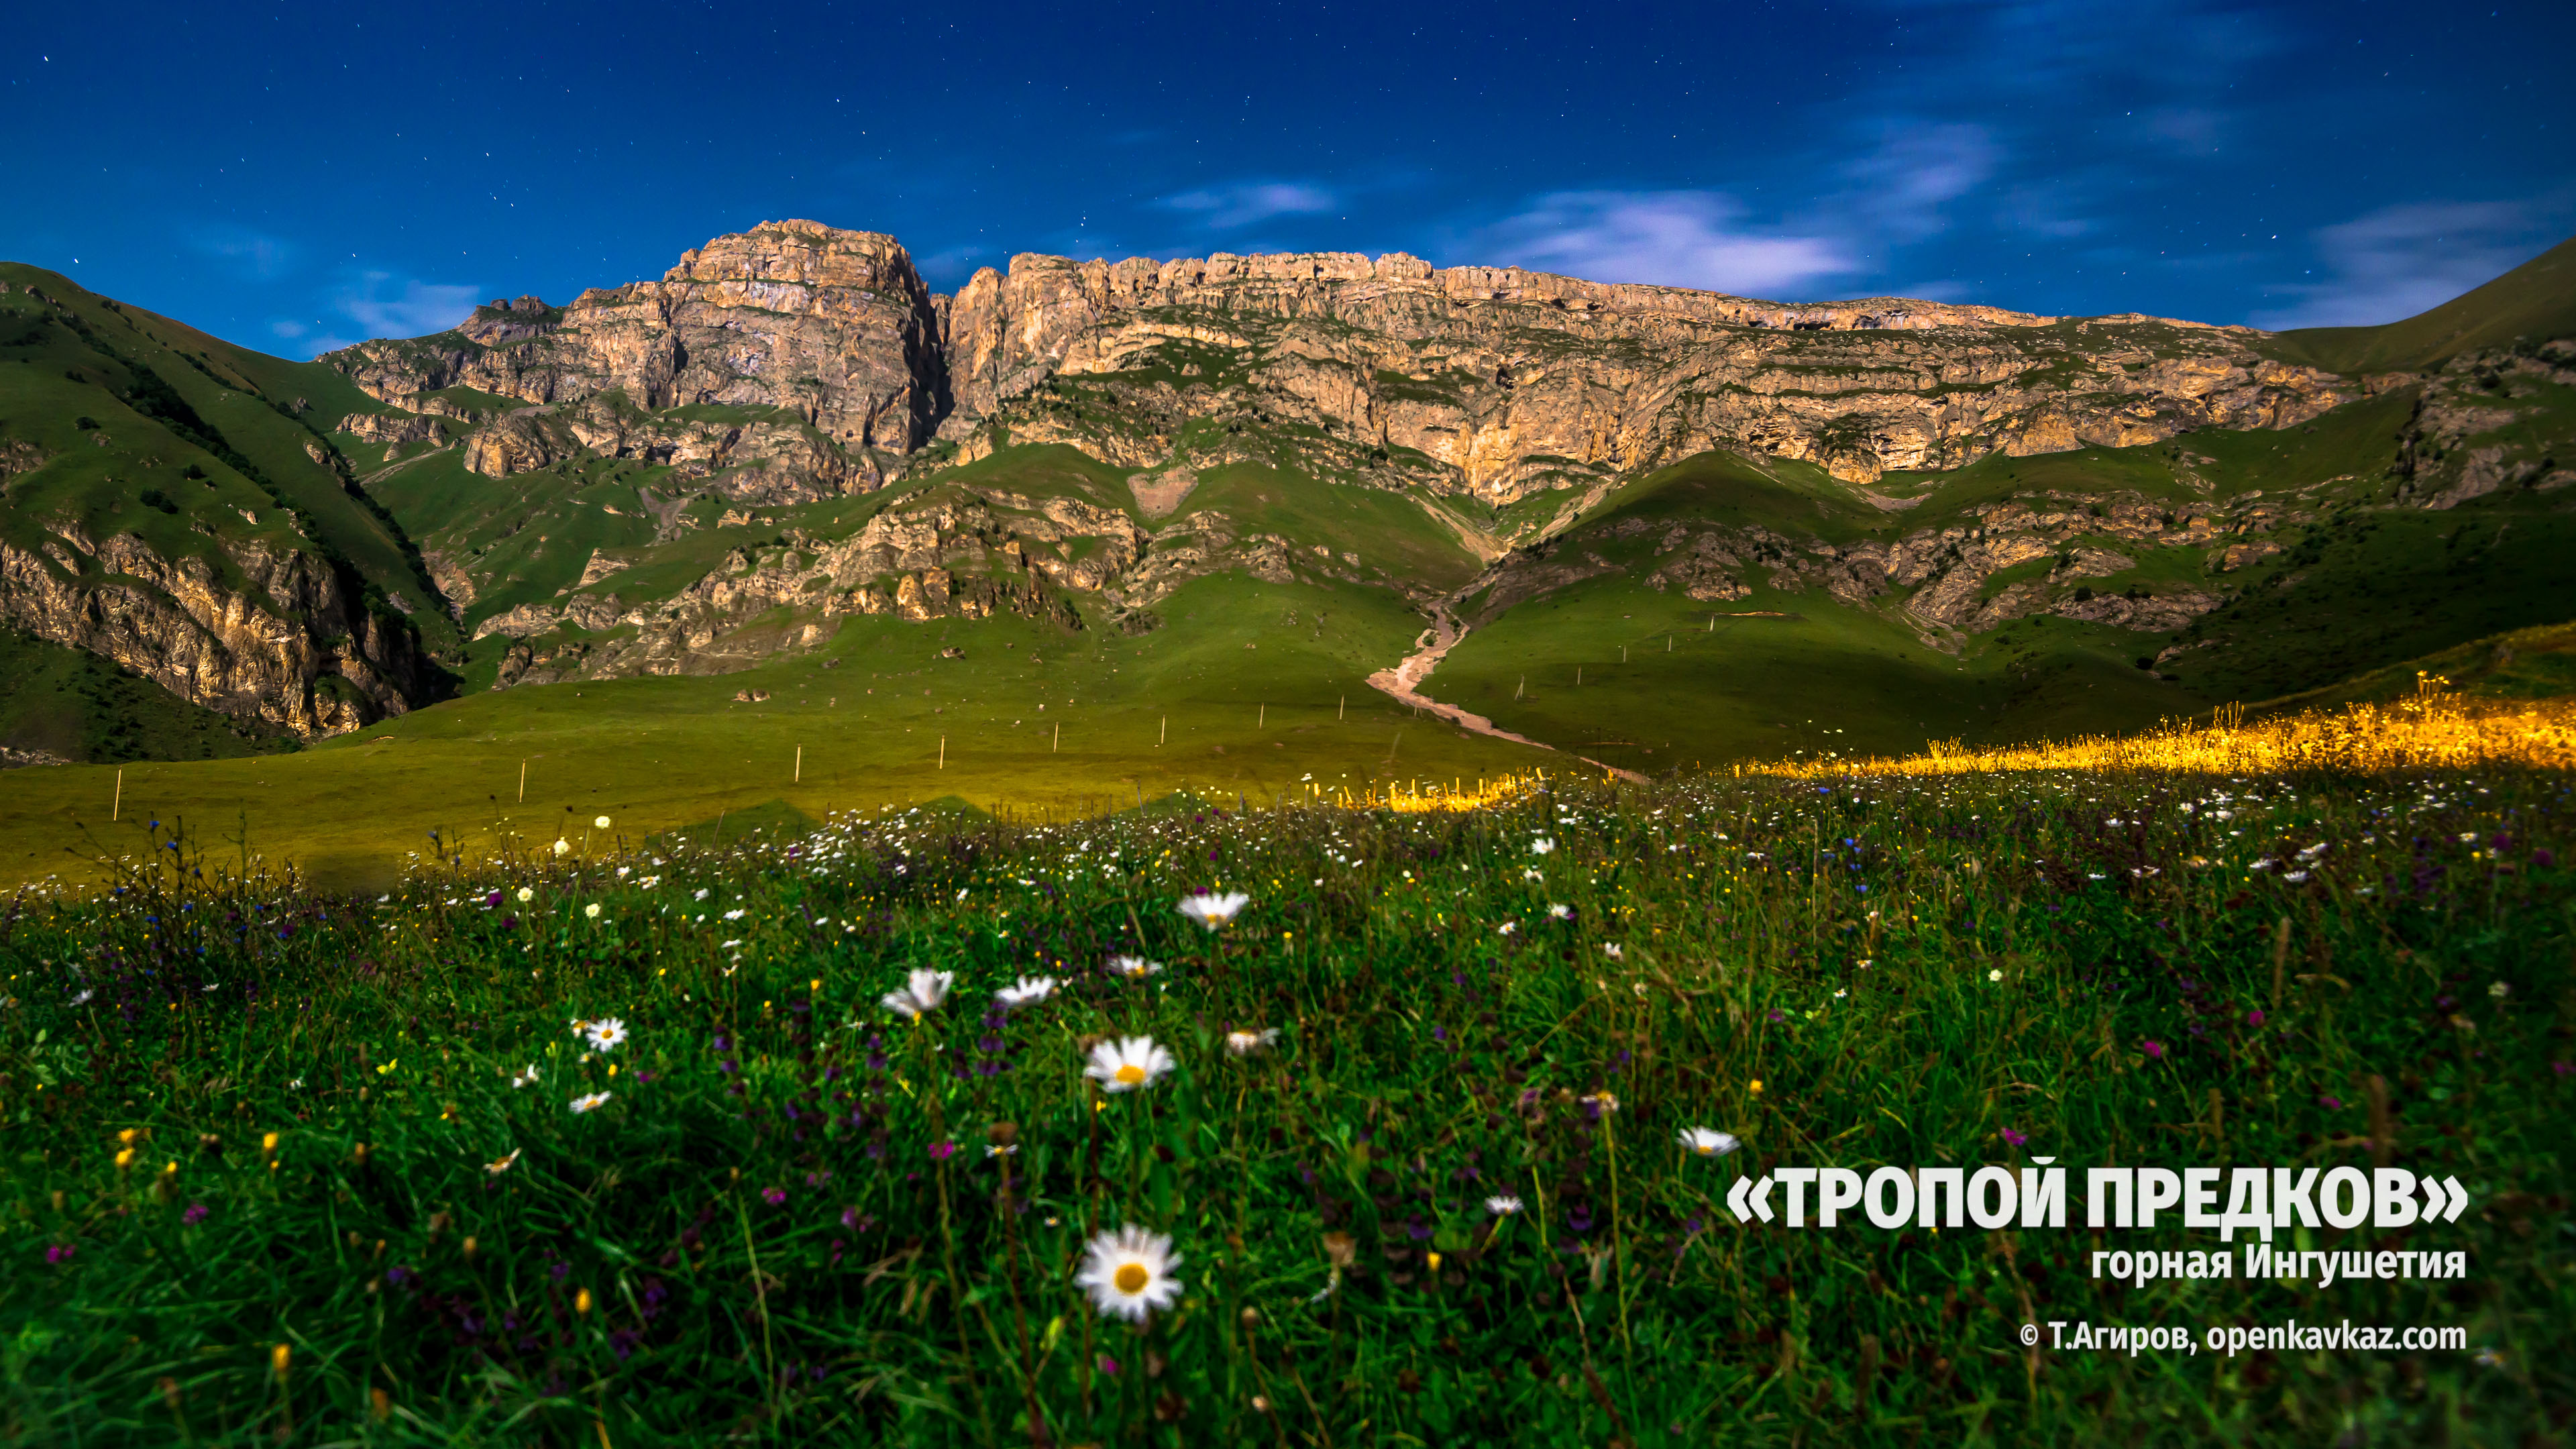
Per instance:
[[[296,735],[355,730],[433,694],[399,621],[304,549],[232,541],[167,559],[134,534],[0,544],[0,616],[126,665],[170,694]]]

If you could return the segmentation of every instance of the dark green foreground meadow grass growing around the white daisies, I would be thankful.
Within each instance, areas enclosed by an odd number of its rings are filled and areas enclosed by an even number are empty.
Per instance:
[[[0,1415],[44,1446],[2548,1439],[2566,810],[2519,771],[951,810],[724,853],[595,833],[386,900],[131,825],[160,864],[124,895],[0,915]],[[2308,846],[2308,879],[2251,869]],[[1203,933],[1172,910],[1200,887],[1252,905]],[[909,969],[956,975],[917,1026],[878,1006]],[[1064,987],[989,1013],[1020,975]],[[603,1016],[608,1055],[567,1029]],[[1103,1098],[1100,1034],[1177,1070]],[[2066,1227],[1723,1207],[1777,1168],[2030,1155]],[[2455,1176],[2458,1222],[2280,1248],[2470,1274],[2115,1284],[2094,1250],[2236,1248],[2177,1212],[2087,1232],[2110,1163]],[[1072,1284],[1121,1222],[1182,1256],[1146,1328]],[[2022,1346],[2293,1320],[2465,1348]]]

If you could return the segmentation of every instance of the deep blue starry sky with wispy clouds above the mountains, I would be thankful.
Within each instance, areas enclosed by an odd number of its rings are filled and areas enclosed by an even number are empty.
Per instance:
[[[49,5],[0,255],[309,356],[760,219],[2385,322],[2576,232],[2576,5]]]

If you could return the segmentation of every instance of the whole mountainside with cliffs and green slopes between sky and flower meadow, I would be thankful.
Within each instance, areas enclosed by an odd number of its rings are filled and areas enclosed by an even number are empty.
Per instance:
[[[1342,253],[945,297],[778,222],[294,364],[0,266],[0,877],[134,810],[366,887],[600,812],[1656,779],[2331,691],[2576,614],[2571,273],[2275,335]]]

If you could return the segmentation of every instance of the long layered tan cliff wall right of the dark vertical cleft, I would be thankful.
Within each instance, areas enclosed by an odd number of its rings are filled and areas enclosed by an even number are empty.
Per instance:
[[[1319,446],[1327,467],[1401,449],[1430,464],[1419,482],[1492,503],[1569,464],[1625,472],[1710,446],[1875,482],[1991,451],[2282,428],[2362,394],[2257,356],[2241,327],[1904,299],[1788,307],[1406,255],[1020,255],[1007,276],[979,271],[945,322],[948,438],[1002,420],[1015,438],[1151,467],[1182,420],[1226,413],[1257,382],[1262,420],[1340,438]],[[1030,415],[1020,402],[1059,376],[1133,376],[1139,420]]]

